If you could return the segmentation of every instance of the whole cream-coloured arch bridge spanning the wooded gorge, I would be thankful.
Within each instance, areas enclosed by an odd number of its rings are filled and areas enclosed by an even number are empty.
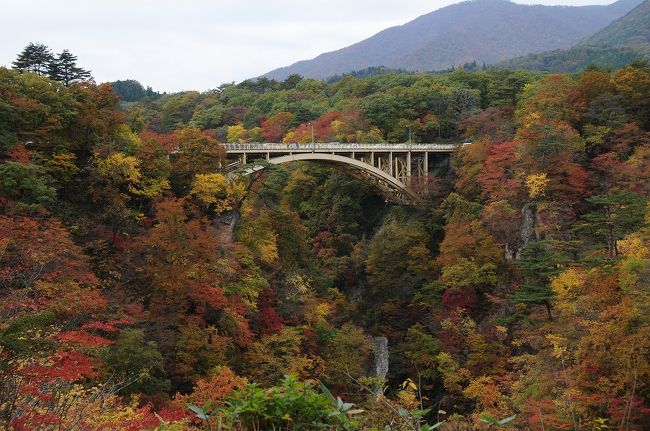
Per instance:
[[[449,157],[456,147],[465,144],[224,144],[228,171],[250,164],[245,174],[263,169],[255,160],[271,164],[313,161],[331,165],[376,187],[389,201],[413,204],[417,201],[414,185],[429,176],[447,171]]]

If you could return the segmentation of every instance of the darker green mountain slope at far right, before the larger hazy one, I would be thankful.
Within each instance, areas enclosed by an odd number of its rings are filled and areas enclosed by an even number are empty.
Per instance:
[[[590,64],[618,68],[650,61],[650,0],[576,46],[504,61],[498,67],[543,72],[577,72]]]

